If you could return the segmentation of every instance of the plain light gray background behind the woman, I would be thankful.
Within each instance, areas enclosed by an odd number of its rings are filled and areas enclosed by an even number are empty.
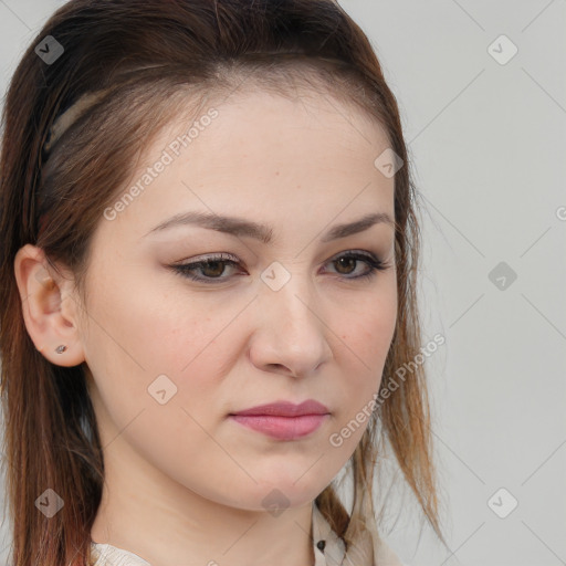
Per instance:
[[[0,0],[2,92],[62,3]],[[566,2],[340,3],[400,105],[424,338],[446,337],[427,367],[450,551],[409,497],[389,544],[413,566],[566,564]]]

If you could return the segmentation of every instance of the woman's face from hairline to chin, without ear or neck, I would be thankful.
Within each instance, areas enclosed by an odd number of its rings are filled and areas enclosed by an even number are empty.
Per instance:
[[[143,190],[106,209],[94,234],[77,336],[102,443],[107,457],[122,447],[113,467],[139,460],[223,505],[304,505],[359,442],[367,417],[340,431],[378,390],[395,329],[395,233],[382,220],[395,219],[394,178],[374,165],[389,144],[323,97],[248,93],[208,115],[186,146],[174,143],[186,120],[164,130],[119,197]],[[263,224],[271,239],[243,223],[156,229],[187,213]],[[381,221],[331,239],[368,214]],[[231,416],[308,399],[326,415]]]

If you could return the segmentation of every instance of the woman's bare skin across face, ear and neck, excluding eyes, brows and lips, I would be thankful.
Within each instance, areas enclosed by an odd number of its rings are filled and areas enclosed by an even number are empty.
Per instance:
[[[85,305],[65,266],[65,277],[48,269],[53,284],[39,282],[48,266],[31,244],[15,276],[38,349],[53,364],[87,364],[106,467],[92,539],[154,566],[304,566],[314,564],[312,502],[368,421],[339,447],[329,437],[378,390],[397,311],[390,224],[319,239],[368,212],[395,218],[395,179],[374,166],[389,144],[359,111],[319,95],[291,102],[255,90],[217,108],[143,195],[101,219]],[[187,129],[181,118],[165,129],[132,182]],[[274,241],[189,224],[144,235],[189,210],[270,224]],[[352,279],[369,270],[335,262],[353,250],[389,268]],[[240,261],[197,271],[221,283],[168,268],[216,253]],[[260,277],[272,262],[291,275],[276,292]],[[163,374],[177,387],[165,405],[148,394]],[[316,399],[331,415],[293,441],[228,417],[284,399]],[[276,516],[262,503],[275,489],[286,497]]]

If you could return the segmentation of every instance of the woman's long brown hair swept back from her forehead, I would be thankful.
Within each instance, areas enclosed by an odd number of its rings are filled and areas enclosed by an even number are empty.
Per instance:
[[[64,48],[51,63],[34,52],[48,35]],[[25,243],[38,245],[53,269],[55,262],[67,266],[84,291],[92,233],[142,150],[187,104],[187,95],[201,103],[226,98],[243,81],[282,96],[293,96],[294,81],[301,81],[321,96],[356,105],[384,127],[405,165],[395,177],[398,319],[380,391],[420,352],[419,224],[397,102],[368,39],[336,1],[66,3],[24,53],[2,115],[0,386],[13,566],[90,564],[90,533],[104,480],[84,363],[61,367],[35,349],[22,316],[14,255]],[[55,118],[92,92],[99,92],[97,102],[46,153]],[[353,509],[346,511],[334,482],[316,503],[349,541],[353,518],[369,522],[368,513],[375,513],[377,459],[390,447],[442,538],[422,367],[378,401],[350,459]],[[46,486],[65,502],[49,520],[34,509]],[[360,503],[364,492],[369,511]]]

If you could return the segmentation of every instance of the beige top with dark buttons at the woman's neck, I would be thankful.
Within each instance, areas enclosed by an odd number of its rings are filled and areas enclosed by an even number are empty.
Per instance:
[[[332,531],[313,502],[313,548],[315,566],[403,566],[391,549],[380,539],[377,530],[364,530],[360,544],[345,552],[345,543]],[[94,566],[151,566],[147,560],[128,551],[109,544],[91,544]]]

